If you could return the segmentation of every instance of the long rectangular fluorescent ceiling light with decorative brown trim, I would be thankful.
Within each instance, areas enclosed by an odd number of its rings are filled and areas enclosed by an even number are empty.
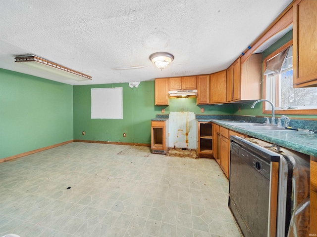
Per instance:
[[[70,68],[66,68],[57,63],[53,63],[49,60],[40,58],[35,55],[17,56],[15,57],[15,62],[29,65],[29,66],[32,66],[41,70],[45,70],[47,72],[50,72],[62,77],[66,77],[69,79],[77,80],[77,81],[91,80],[91,77],[86,74],[80,73]]]

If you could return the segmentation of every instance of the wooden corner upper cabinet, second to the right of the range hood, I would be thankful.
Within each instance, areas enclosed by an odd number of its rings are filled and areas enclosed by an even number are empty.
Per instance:
[[[226,102],[227,71],[221,71],[210,75],[210,104]]]

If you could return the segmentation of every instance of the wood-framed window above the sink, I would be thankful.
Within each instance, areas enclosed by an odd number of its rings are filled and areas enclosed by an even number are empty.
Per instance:
[[[293,88],[292,41],[264,59],[264,98],[276,114],[317,114],[317,87]],[[264,103],[264,113],[271,107]]]

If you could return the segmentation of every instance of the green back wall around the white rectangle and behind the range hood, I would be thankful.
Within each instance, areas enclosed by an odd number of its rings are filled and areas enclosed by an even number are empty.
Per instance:
[[[123,87],[123,119],[91,119],[91,88]],[[128,83],[74,86],[74,139],[151,143],[151,119],[165,109],[208,114],[231,114],[232,105],[197,106],[196,98],[169,99],[169,106],[154,105],[154,81],[143,81],[138,88]],[[85,135],[82,132],[85,131]],[[126,137],[123,137],[126,133]]]

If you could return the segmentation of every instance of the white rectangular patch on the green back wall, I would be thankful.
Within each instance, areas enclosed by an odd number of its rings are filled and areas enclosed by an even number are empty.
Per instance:
[[[122,87],[91,89],[92,119],[123,119]]]

